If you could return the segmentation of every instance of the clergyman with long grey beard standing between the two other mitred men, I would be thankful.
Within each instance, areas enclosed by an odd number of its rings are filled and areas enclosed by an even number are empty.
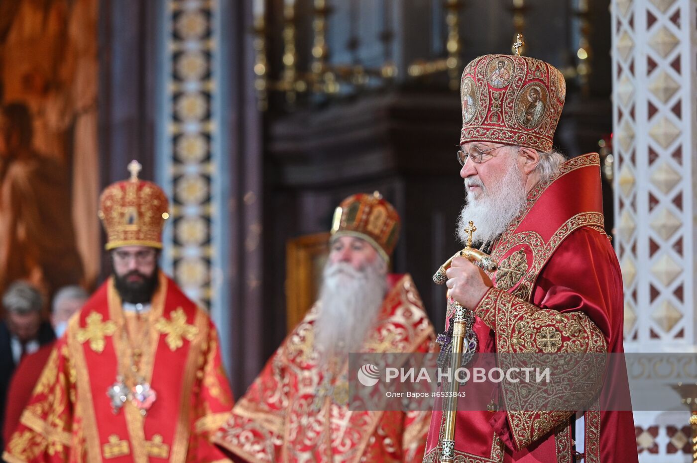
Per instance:
[[[215,441],[247,462],[420,462],[428,411],[348,407],[348,352],[429,352],[434,328],[408,275],[387,274],[399,216],[379,194],[335,212],[319,300]]]

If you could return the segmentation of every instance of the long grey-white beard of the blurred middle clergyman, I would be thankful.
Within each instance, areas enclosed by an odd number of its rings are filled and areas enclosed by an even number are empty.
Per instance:
[[[358,271],[346,262],[324,267],[314,347],[320,359],[360,352],[387,291],[384,266],[376,260]]]

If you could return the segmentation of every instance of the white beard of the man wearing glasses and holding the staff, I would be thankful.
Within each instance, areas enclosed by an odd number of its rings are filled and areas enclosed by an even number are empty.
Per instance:
[[[477,228],[473,235],[473,244],[480,246],[493,241],[503,233],[508,224],[523,210],[526,203],[523,178],[514,157],[510,158],[504,175],[493,185],[484,187],[478,178],[467,178],[465,185],[481,187],[482,191],[477,198],[473,194],[468,194],[467,201],[460,212],[457,234],[463,244],[467,242],[468,234],[465,229],[470,221],[473,221]]]

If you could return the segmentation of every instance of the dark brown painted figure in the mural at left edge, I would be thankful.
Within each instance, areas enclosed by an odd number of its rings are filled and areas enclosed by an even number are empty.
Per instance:
[[[0,288],[26,279],[51,291],[82,280],[68,173],[32,148],[29,108],[0,110]]]

